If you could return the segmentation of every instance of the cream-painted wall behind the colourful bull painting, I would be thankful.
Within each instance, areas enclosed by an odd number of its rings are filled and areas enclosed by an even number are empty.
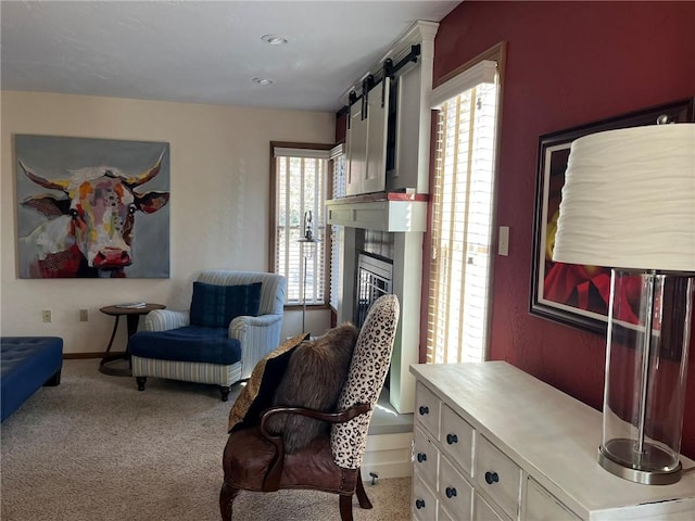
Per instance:
[[[58,335],[65,353],[100,353],[118,302],[187,308],[201,269],[265,271],[268,266],[269,141],[332,143],[332,113],[3,91],[0,98],[0,332]],[[91,137],[170,144],[169,279],[18,279],[15,134]],[[137,227],[137,223],[136,223]],[[78,310],[89,310],[79,321]],[[51,309],[51,323],[41,310]],[[125,320],[124,320],[125,321]],[[307,314],[312,331],[328,313]],[[299,333],[301,313],[286,313],[283,336]],[[114,351],[125,346],[121,326]]]

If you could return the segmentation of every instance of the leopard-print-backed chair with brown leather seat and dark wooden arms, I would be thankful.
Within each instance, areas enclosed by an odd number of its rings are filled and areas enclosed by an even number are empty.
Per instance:
[[[381,296],[371,306],[354,344],[348,377],[334,411],[275,406],[261,412],[257,421],[245,421],[245,428],[238,428],[244,422],[236,423],[223,456],[225,478],[219,493],[223,521],[231,520],[232,504],[241,491],[302,488],[338,494],[342,521],[353,519],[352,498],[355,494],[362,508],[371,508],[359,467],[374,407],[389,369],[397,320],[399,301],[395,295]],[[271,354],[275,357],[267,360],[268,366],[286,356],[289,348],[291,346],[285,346],[277,354]],[[291,361],[288,367],[290,365]],[[277,374],[273,377],[276,379]],[[286,450],[283,434],[273,434],[268,429],[275,415],[301,415],[328,422],[330,428],[302,448],[289,452]],[[230,414],[230,420],[232,417]],[[243,519],[243,512],[239,514],[239,519]]]

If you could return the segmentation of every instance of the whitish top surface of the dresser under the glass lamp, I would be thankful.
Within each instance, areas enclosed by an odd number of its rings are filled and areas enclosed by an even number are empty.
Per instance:
[[[587,510],[695,497],[695,472],[672,485],[632,483],[597,462],[602,414],[504,361],[418,364],[410,372],[507,456]],[[682,457],[683,468],[695,466]]]

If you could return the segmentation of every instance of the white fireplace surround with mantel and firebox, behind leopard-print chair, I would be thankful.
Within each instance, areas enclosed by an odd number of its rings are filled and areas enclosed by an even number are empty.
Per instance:
[[[415,379],[409,368],[419,361],[427,196],[370,194],[331,200],[327,207],[341,244],[337,320],[359,325],[369,302],[383,293],[399,297],[389,401],[399,414],[413,412]]]

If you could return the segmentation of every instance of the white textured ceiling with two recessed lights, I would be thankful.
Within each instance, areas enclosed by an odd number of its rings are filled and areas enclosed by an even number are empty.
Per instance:
[[[337,111],[413,22],[439,22],[458,3],[2,0],[0,81],[3,90]]]

